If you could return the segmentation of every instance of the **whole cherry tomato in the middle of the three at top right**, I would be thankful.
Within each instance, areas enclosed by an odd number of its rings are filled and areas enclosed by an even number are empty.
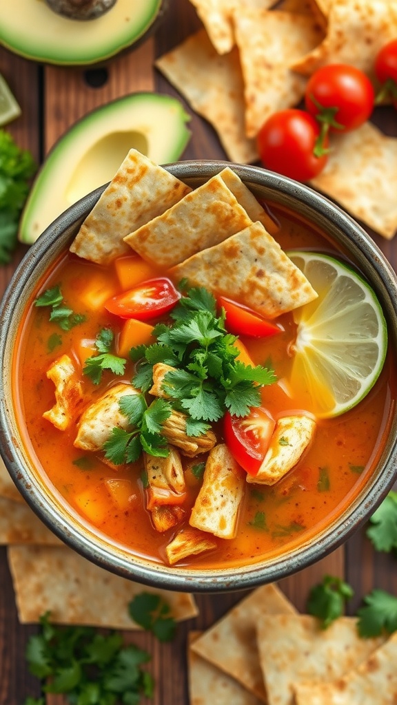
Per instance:
[[[315,71],[307,82],[304,102],[321,122],[323,132],[348,132],[368,120],[374,109],[374,87],[355,66],[330,63]]]

